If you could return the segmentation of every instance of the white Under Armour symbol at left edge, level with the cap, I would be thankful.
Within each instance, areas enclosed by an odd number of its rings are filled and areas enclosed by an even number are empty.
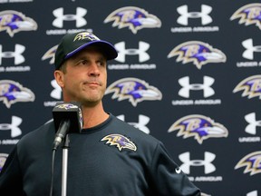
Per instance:
[[[5,51],[3,52],[3,46],[0,44],[0,65],[2,64],[3,58],[14,58],[14,64],[23,64],[24,63],[24,53],[25,47],[22,44],[14,45],[14,52]]]

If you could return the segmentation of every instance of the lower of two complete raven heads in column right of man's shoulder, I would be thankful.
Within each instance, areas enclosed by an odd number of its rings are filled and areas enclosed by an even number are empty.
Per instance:
[[[204,115],[192,114],[174,122],[168,132],[179,131],[177,136],[194,137],[199,144],[208,138],[227,137],[227,128]]]

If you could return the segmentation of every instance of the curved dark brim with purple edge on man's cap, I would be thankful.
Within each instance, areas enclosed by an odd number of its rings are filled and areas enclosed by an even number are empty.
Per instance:
[[[80,47],[76,48],[71,53],[67,54],[64,57],[64,60],[70,58],[71,56],[73,56],[73,54],[79,53],[84,48],[86,48],[87,46],[90,46],[90,45],[99,46],[102,53],[106,55],[107,60],[115,59],[118,56],[118,53],[117,53],[115,47],[112,44],[105,42],[105,41],[102,41],[102,40],[96,40],[96,41],[92,41],[90,43],[82,44]]]

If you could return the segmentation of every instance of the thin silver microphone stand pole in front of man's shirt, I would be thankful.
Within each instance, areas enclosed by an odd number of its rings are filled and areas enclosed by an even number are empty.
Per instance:
[[[70,147],[69,143],[69,136],[66,134],[63,142],[62,196],[66,196],[67,191],[68,149]]]

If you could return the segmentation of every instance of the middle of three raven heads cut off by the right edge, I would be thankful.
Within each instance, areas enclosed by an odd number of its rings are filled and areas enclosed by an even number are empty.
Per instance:
[[[253,75],[237,84],[233,93],[243,91],[242,96],[248,96],[249,99],[259,96],[261,99],[261,75]]]

